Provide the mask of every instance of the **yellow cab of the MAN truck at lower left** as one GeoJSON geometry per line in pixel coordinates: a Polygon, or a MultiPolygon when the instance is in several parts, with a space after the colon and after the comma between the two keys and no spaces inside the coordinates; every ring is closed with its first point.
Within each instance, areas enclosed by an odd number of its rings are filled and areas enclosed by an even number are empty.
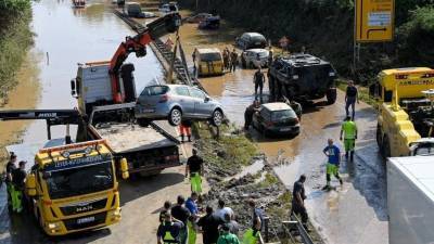
{"type": "Polygon", "coordinates": [[[27,176],[26,196],[49,235],[120,221],[114,158],[104,141],[39,150],[27,176]]]}

